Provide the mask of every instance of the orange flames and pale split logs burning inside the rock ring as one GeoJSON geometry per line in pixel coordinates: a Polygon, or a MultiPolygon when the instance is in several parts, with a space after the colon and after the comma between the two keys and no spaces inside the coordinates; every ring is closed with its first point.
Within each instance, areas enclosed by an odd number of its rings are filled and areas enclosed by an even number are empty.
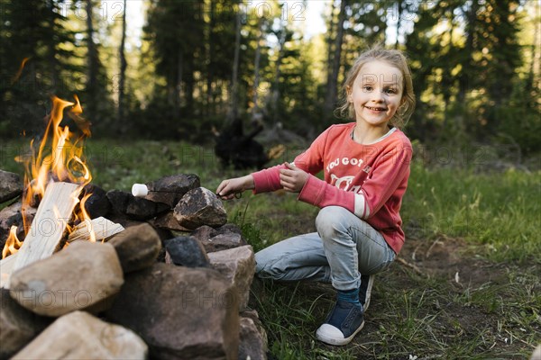
{"type": "Polygon", "coordinates": [[[32,140],[31,156],[17,158],[26,170],[21,207],[24,241],[17,238],[17,227],[12,226],[2,251],[2,287],[9,287],[9,277],[14,270],[50,257],[75,239],[96,241],[97,227],[100,239],[124,229],[105,219],[90,219],[85,202],[92,193],[79,199],[92,180],[83,155],[83,141],[90,135],[90,124],[80,116],[82,108],[77,96],[75,101],[70,103],[53,96],[50,120],[39,147],[36,149],[32,140]],[[75,132],[68,126],[60,126],[66,108],[81,133],[76,139],[75,132]],[[36,204],[39,207],[34,213],[32,209],[36,204]]]}

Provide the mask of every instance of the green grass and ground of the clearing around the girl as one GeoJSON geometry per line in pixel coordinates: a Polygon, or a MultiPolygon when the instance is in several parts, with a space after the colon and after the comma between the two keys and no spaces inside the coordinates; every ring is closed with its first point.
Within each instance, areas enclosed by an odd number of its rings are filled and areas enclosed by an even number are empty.
{"type": "MultiPolygon", "coordinates": [[[[0,168],[21,174],[14,157],[26,147],[2,143],[0,168]]],[[[222,179],[244,174],[222,168],[212,148],[182,142],[90,139],[86,154],[93,183],[105,190],[194,173],[214,191],[222,179]]],[[[395,262],[378,275],[365,328],[347,347],[315,338],[334,302],[330,285],[257,282],[251,303],[267,330],[270,358],[527,358],[541,343],[540,191],[539,170],[487,174],[415,161],[401,211],[408,247],[400,256],[420,271],[395,262]],[[439,257],[428,257],[436,247],[439,257]]],[[[317,209],[290,193],[246,192],[225,208],[256,251],[315,230],[317,209]]]]}

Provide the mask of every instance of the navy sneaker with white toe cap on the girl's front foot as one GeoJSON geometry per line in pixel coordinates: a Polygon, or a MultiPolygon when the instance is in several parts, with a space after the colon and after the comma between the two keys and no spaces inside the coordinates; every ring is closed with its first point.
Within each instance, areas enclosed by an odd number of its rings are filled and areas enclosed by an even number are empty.
{"type": "Polygon", "coordinates": [[[316,338],[329,345],[346,345],[364,326],[362,306],[337,301],[325,323],[316,331],[316,338]]]}

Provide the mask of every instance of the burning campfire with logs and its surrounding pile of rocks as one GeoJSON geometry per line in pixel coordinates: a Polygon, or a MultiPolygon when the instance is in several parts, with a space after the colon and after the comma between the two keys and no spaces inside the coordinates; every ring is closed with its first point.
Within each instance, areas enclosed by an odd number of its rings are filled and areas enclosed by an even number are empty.
{"type": "Polygon", "coordinates": [[[90,123],[77,97],[52,104],[23,192],[0,170],[0,359],[266,358],[252,247],[215,193],[190,174],[91,184],[90,123]]]}

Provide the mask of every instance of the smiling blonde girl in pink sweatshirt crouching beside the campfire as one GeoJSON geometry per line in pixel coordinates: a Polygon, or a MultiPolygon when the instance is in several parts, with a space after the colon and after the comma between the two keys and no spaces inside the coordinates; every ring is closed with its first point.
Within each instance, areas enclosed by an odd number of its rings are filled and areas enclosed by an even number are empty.
{"type": "Polygon", "coordinates": [[[316,338],[348,344],[364,325],[374,275],[404,243],[399,216],[411,144],[399,130],[415,106],[408,62],[376,47],[356,59],[344,84],[342,114],[354,122],[325,130],[293,163],[224,180],[216,193],[285,189],[321,210],[317,232],[288,238],[255,255],[256,274],[276,281],[331,282],[335,307],[316,338]],[[325,180],[315,175],[324,171],[325,180]]]}

